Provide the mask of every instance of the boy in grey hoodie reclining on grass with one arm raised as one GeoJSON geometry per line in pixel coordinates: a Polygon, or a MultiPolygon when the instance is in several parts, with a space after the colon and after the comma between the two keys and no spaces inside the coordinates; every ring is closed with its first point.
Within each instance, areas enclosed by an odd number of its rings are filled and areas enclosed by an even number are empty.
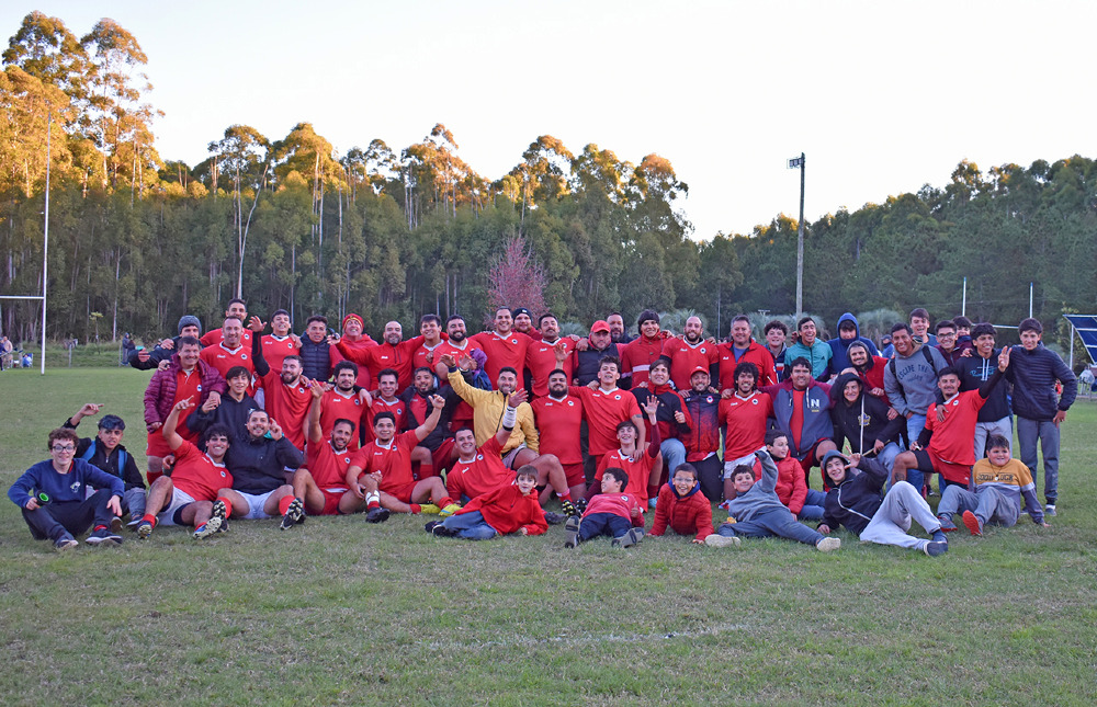
{"type": "Polygon", "coordinates": [[[716,531],[724,537],[770,537],[778,536],[814,545],[823,552],[837,550],[841,540],[826,537],[803,523],[798,523],[792,512],[781,503],[774,491],[777,487],[777,465],[765,447],[755,452],[761,461],[762,478],[755,483],[755,471],[740,464],[732,471],[732,483],[736,497],[727,503],[731,517],[716,531]]]}

